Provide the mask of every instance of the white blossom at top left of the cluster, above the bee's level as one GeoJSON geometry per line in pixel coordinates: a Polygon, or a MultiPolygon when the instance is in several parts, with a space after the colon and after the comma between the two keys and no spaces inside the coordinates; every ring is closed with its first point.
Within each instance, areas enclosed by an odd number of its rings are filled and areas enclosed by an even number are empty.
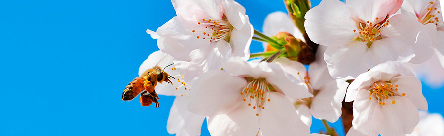
{"type": "Polygon", "coordinates": [[[253,26],[233,0],[171,0],[176,17],[157,29],[157,46],[171,55],[185,80],[221,69],[229,57],[247,60],[253,26]]]}

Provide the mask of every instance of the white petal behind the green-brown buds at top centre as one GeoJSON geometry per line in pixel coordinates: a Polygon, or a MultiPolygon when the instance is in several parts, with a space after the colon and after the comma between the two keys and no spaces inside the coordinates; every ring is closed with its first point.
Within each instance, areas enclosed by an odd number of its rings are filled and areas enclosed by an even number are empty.
{"type": "MultiPolygon", "coordinates": [[[[293,21],[290,19],[287,13],[281,11],[268,14],[263,22],[263,34],[271,37],[276,35],[278,32],[291,33],[295,38],[301,39],[305,42],[304,36],[293,24],[293,21]]],[[[267,42],[263,42],[263,49],[266,49],[267,45],[267,42]]]]}

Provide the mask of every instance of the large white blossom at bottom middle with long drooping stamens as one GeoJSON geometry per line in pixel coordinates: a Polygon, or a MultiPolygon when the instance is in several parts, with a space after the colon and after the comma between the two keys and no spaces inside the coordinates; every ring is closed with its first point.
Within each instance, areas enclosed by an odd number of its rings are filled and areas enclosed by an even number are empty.
{"type": "Polygon", "coordinates": [[[224,71],[202,74],[186,96],[188,108],[208,116],[212,136],[308,136],[290,98],[312,97],[276,63],[249,63],[231,58],[224,71]]]}

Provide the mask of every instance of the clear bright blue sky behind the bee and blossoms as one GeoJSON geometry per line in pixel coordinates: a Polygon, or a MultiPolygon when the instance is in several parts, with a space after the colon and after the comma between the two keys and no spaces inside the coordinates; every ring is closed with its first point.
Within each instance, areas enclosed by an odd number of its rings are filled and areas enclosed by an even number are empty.
{"type": "MultiPolygon", "coordinates": [[[[282,0],[236,1],[259,31],[267,14],[286,11],[282,0]]],[[[158,50],[145,30],[173,16],[169,0],[0,2],[0,135],[172,136],[174,97],[160,96],[155,108],[123,102],[121,93],[158,50]]],[[[252,52],[261,50],[252,43],[252,52]]],[[[423,85],[430,112],[444,113],[442,90],[423,85]]],[[[340,121],[333,126],[343,135],[340,121]]],[[[314,121],[312,132],[321,129],[314,121]]],[[[202,136],[209,136],[206,122],[202,136]]]]}

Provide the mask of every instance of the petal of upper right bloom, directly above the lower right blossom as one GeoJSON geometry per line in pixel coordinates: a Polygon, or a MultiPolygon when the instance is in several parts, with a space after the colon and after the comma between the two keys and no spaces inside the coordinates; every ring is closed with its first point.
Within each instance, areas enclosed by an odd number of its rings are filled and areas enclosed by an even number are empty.
{"type": "Polygon", "coordinates": [[[411,47],[397,38],[384,38],[376,40],[371,44],[366,54],[367,66],[372,68],[387,61],[408,62],[415,57],[411,47]]]}

